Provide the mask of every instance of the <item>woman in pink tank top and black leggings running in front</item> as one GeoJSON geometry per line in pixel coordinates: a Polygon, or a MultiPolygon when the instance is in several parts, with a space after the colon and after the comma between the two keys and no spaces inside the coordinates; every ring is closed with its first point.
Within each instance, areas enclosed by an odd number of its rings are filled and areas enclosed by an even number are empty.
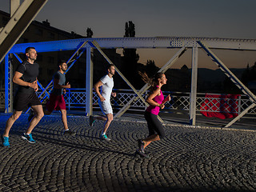
{"type": "Polygon", "coordinates": [[[150,142],[158,141],[166,136],[162,123],[158,120],[158,113],[160,109],[162,110],[165,107],[165,103],[170,101],[170,95],[164,99],[161,90],[161,87],[166,85],[167,82],[165,74],[157,73],[152,79],[148,78],[146,74],[140,74],[142,75],[143,81],[151,85],[150,95],[146,98],[146,102],[148,102],[150,106],[146,108],[144,114],[149,129],[149,136],[138,140],[138,150],[136,150],[135,154],[139,154],[143,158],[149,158],[149,156],[145,154],[146,146],[148,146],[150,142]]]}

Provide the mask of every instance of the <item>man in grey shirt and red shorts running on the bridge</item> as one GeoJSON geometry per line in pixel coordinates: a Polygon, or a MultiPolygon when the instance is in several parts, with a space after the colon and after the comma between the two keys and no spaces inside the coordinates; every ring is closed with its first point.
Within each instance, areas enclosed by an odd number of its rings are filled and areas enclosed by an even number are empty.
{"type": "Polygon", "coordinates": [[[67,70],[66,61],[58,62],[58,71],[54,74],[54,89],[50,92],[50,99],[46,102],[45,115],[49,115],[53,110],[60,110],[62,113],[62,122],[64,125],[64,135],[72,135],[75,133],[69,130],[66,120],[66,102],[63,97],[66,89],[70,89],[69,82],[66,83],[65,71],[67,70]],[[66,83],[66,84],[65,84],[66,83]]]}

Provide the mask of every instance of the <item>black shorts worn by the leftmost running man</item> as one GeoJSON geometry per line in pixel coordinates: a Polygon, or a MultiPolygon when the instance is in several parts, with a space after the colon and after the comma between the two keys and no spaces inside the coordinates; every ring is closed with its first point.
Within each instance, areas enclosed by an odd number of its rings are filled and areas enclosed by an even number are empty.
{"type": "Polygon", "coordinates": [[[26,109],[27,106],[38,105],[42,105],[42,103],[35,92],[32,94],[17,93],[14,97],[14,110],[22,111],[26,109]]]}

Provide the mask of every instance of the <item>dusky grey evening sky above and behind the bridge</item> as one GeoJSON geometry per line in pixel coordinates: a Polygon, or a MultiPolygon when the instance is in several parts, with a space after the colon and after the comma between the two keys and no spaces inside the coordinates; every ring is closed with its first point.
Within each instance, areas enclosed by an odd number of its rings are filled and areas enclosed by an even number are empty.
{"type": "MultiPolygon", "coordinates": [[[[22,1],[21,1],[22,2],[22,1]]],[[[1,1],[1,10],[9,11],[9,0],[1,1]]],[[[68,32],[86,35],[87,27],[94,38],[120,38],[125,23],[134,22],[135,37],[207,37],[256,38],[255,0],[49,0],[35,18],[48,21],[68,32]]],[[[166,64],[177,50],[138,50],[140,61],[151,59],[158,66],[166,64]]],[[[119,52],[121,53],[122,50],[119,52]]],[[[199,53],[200,54],[200,53],[199,53]]],[[[254,51],[222,52],[223,62],[232,68],[252,66],[254,51]]],[[[210,58],[198,61],[199,67],[209,66],[210,58]]],[[[190,54],[174,68],[190,67],[190,54]]],[[[214,68],[211,64],[210,68],[214,68]]]]}

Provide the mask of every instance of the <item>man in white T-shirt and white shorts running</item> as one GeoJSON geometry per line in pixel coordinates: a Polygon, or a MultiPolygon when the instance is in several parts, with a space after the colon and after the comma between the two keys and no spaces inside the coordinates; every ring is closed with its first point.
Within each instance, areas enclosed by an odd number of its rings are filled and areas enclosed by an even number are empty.
{"type": "Polygon", "coordinates": [[[90,126],[93,126],[94,121],[96,119],[106,121],[104,129],[102,131],[102,134],[100,138],[102,140],[110,141],[110,138],[106,136],[106,130],[110,126],[110,122],[113,120],[113,110],[112,106],[110,104],[110,97],[111,95],[113,97],[116,97],[116,93],[112,92],[114,81],[113,81],[113,75],[115,72],[114,65],[110,64],[110,66],[107,69],[108,74],[106,74],[104,77],[102,77],[98,82],[94,85],[94,90],[96,94],[98,94],[98,104],[102,110],[102,113],[106,115],[106,117],[94,117],[90,116],[90,126]],[[102,91],[99,91],[99,87],[102,86],[102,91]]]}

